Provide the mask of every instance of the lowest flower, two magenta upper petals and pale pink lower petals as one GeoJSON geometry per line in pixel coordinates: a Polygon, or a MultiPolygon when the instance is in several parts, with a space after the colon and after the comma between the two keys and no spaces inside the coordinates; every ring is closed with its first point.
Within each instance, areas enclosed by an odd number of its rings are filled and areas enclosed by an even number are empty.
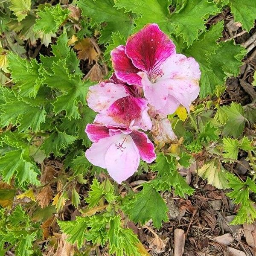
{"type": "Polygon", "coordinates": [[[106,168],[119,184],[137,171],[140,158],[147,163],[156,158],[154,145],[141,131],[88,124],[85,132],[93,142],[85,156],[93,165],[106,168]]]}

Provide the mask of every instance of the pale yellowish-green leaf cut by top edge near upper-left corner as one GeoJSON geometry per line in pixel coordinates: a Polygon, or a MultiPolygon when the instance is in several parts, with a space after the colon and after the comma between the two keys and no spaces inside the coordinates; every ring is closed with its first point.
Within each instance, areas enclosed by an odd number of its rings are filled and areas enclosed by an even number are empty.
{"type": "Polygon", "coordinates": [[[10,2],[12,5],[9,8],[17,16],[18,22],[20,22],[28,15],[31,8],[31,0],[10,0],[10,2]]]}

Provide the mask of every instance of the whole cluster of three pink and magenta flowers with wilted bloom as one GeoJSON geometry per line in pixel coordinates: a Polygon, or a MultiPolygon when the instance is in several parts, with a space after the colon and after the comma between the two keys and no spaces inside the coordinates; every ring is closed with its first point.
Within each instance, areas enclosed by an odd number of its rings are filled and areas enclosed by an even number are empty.
{"type": "Polygon", "coordinates": [[[177,54],[157,24],[148,24],[111,52],[114,73],[91,86],[88,106],[98,114],[85,132],[93,142],[87,159],[121,183],[137,171],[140,158],[151,163],[156,143],[174,140],[167,119],[198,97],[201,72],[194,58],[177,54]]]}

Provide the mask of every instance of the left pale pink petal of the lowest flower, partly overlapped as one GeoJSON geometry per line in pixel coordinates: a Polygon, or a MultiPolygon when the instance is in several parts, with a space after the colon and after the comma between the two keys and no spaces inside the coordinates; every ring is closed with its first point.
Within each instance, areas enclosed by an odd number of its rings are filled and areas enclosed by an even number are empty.
{"type": "Polygon", "coordinates": [[[94,142],[87,151],[85,151],[85,156],[95,166],[106,168],[105,156],[108,151],[108,148],[113,144],[115,145],[120,141],[120,138],[123,137],[123,134],[116,134],[111,137],[106,137],[98,142],[94,142]]]}

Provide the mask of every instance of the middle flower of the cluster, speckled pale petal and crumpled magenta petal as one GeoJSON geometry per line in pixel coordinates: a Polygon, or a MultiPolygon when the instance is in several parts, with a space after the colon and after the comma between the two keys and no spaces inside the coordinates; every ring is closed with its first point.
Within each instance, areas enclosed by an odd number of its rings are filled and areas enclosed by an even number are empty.
{"type": "Polygon", "coordinates": [[[152,128],[148,102],[141,96],[140,87],[116,84],[113,80],[91,86],[88,106],[99,114],[94,122],[131,129],[152,128]]]}

